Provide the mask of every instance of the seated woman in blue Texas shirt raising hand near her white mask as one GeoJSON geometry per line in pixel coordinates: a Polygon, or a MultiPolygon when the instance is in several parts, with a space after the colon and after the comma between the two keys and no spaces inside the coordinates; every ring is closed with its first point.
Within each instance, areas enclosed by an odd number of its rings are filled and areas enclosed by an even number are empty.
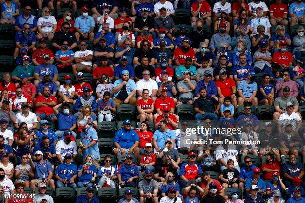
{"type": "Polygon", "coordinates": [[[87,155],[84,159],[83,164],[81,164],[78,168],[77,187],[92,187],[95,182],[96,174],[97,170],[96,166],[92,164],[92,156],[87,155]]]}

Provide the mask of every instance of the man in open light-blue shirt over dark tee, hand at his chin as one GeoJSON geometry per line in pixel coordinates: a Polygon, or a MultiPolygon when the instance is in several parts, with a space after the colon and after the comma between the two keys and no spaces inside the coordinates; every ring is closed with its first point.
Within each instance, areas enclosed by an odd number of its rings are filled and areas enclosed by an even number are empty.
{"type": "Polygon", "coordinates": [[[114,103],[115,105],[120,105],[123,103],[129,103],[131,105],[136,105],[136,84],[133,80],[129,79],[128,70],[123,70],[121,72],[122,78],[116,80],[112,91],[114,92],[114,103]]]}

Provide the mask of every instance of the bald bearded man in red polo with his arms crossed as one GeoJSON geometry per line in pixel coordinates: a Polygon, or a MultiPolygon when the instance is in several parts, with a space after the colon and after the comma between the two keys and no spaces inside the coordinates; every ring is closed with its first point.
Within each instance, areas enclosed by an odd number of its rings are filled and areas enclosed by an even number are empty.
{"type": "Polygon", "coordinates": [[[43,119],[55,122],[57,118],[53,112],[53,107],[57,105],[57,98],[50,96],[50,88],[43,88],[43,95],[38,95],[35,100],[37,120],[40,122],[43,119]]]}

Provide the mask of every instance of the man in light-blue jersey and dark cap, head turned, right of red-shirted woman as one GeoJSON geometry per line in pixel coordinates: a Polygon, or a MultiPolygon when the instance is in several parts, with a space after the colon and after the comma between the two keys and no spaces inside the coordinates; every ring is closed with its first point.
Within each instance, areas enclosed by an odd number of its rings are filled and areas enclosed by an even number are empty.
{"type": "Polygon", "coordinates": [[[237,98],[238,105],[243,105],[244,102],[252,103],[255,107],[258,105],[258,100],[256,96],[257,93],[257,84],[255,82],[255,73],[248,72],[247,79],[240,81],[237,86],[237,91],[239,98],[237,98]]]}

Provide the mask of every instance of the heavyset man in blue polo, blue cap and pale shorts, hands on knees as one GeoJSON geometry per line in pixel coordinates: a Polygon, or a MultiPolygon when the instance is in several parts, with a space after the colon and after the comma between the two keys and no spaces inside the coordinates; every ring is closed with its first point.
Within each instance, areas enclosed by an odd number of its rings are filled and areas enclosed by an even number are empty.
{"type": "Polygon", "coordinates": [[[139,141],[137,132],[131,129],[130,120],[124,120],[123,128],[118,130],[114,137],[115,148],[112,151],[116,156],[133,153],[138,158],[140,154],[140,149],[137,147],[139,141]]]}

